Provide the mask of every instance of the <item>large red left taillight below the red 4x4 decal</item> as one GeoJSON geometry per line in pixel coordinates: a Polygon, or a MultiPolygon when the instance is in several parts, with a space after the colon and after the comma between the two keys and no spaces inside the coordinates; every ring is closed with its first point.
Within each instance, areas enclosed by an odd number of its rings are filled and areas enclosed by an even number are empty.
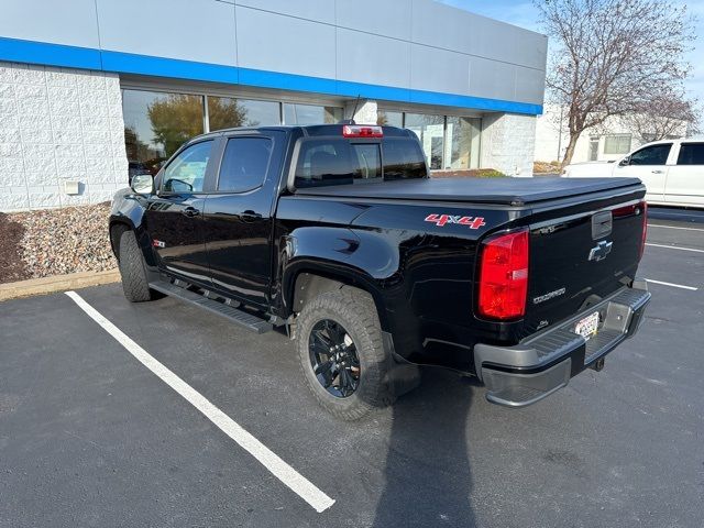
{"type": "Polygon", "coordinates": [[[481,251],[480,315],[522,317],[528,294],[528,230],[488,239],[481,251]]]}

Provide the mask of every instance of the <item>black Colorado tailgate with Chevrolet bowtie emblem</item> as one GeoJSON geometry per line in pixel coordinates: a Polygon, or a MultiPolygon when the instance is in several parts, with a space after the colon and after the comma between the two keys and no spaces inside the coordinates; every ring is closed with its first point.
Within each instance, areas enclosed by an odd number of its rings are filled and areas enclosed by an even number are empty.
{"type": "Polygon", "coordinates": [[[528,336],[629,285],[640,261],[644,188],[585,199],[575,210],[535,210],[530,223],[528,336]]]}

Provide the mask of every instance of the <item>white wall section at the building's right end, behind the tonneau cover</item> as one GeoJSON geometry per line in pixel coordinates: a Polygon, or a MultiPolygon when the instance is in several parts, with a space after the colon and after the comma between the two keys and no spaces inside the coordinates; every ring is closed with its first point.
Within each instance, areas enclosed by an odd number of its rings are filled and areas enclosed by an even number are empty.
{"type": "Polygon", "coordinates": [[[495,168],[508,176],[532,176],[535,116],[484,114],[481,142],[482,168],[495,168]]]}

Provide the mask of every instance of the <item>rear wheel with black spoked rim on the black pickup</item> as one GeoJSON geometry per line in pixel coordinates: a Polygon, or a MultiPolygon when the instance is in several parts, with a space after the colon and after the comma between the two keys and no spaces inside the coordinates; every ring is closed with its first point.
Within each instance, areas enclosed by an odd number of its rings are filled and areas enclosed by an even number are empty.
{"type": "Polygon", "coordinates": [[[310,300],[297,320],[298,356],[318,403],[355,420],[392,403],[388,358],[374,300],[345,286],[310,300]]]}

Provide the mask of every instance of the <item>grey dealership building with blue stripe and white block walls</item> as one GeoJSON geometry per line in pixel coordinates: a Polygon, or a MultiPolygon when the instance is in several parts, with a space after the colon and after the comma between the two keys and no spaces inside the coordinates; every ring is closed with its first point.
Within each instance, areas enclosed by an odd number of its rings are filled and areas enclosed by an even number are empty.
{"type": "Polygon", "coordinates": [[[528,176],[546,55],[431,0],[3,0],[0,211],[109,200],[202,132],[349,118],[528,176]]]}

